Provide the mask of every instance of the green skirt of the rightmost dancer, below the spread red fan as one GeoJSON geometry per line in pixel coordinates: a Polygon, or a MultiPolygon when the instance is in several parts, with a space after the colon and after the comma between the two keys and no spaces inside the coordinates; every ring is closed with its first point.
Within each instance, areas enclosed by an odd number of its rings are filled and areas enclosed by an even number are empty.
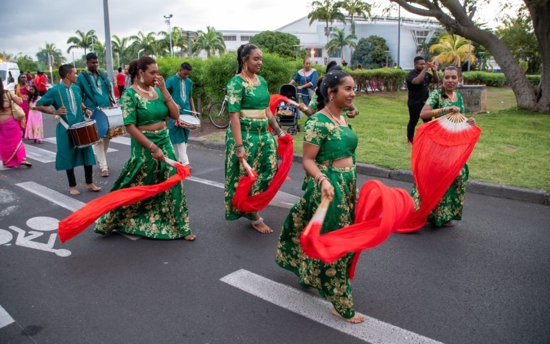
{"type": "MultiPolygon", "coordinates": [[[[428,222],[436,226],[443,226],[453,220],[462,220],[462,209],[464,205],[464,194],[466,193],[466,182],[470,170],[467,164],[464,164],[458,176],[447,189],[443,198],[428,214],[428,222]]],[[[412,186],[412,199],[414,200],[415,210],[420,208],[420,194],[416,189],[416,184],[412,186]]]]}

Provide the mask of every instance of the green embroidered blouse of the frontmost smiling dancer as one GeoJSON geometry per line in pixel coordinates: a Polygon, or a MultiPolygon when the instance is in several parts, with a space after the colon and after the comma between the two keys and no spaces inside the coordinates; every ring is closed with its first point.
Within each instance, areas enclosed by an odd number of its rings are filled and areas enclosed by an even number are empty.
{"type": "Polygon", "coordinates": [[[351,125],[336,125],[330,118],[317,112],[306,121],[304,142],[319,146],[315,161],[325,162],[354,157],[358,139],[351,125]]]}

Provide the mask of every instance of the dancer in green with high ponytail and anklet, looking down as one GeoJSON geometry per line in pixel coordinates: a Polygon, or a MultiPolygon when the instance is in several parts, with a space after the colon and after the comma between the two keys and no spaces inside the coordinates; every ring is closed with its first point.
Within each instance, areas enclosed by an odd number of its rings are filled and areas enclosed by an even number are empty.
{"type": "Polygon", "coordinates": [[[255,45],[241,45],[237,61],[237,75],[227,84],[231,125],[226,135],[226,220],[246,217],[252,220],[256,231],[271,233],[273,231],[257,212],[248,214],[237,210],[233,206],[233,195],[240,177],[246,174],[243,161],[258,173],[250,193],[256,195],[268,188],[278,166],[277,144],[268,126],[278,136],[284,133],[269,108],[270,93],[266,80],[256,75],[262,65],[262,52],[255,45]]]}

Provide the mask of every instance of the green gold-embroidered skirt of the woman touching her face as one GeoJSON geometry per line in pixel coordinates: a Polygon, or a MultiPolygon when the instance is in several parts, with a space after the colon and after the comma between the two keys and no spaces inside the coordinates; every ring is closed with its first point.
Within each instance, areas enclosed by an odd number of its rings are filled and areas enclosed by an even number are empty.
{"type": "MultiPolygon", "coordinates": [[[[166,128],[141,132],[162,149],[164,156],[177,160],[166,128]]],[[[158,184],[174,174],[175,167],[154,159],[149,149],[131,138],[130,159],[114,182],[112,191],[138,185],[158,184]]],[[[183,183],[101,216],[95,232],[108,234],[113,230],[155,239],[177,239],[191,234],[183,183]]]]}

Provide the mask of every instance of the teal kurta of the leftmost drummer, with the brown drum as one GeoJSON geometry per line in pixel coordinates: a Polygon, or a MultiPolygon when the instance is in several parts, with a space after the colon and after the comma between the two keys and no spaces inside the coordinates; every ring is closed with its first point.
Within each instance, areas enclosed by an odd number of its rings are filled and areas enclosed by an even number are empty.
{"type": "MultiPolygon", "coordinates": [[[[84,122],[84,116],[80,104],[82,96],[80,89],[76,85],[69,86],[59,83],[49,89],[40,100],[36,102],[36,106],[52,105],[56,110],[63,105],[67,108],[67,114],[62,115],[63,121],[73,125],[79,122],[84,122]],[[59,92],[63,102],[59,99],[59,92]]],[[[85,148],[76,148],[73,143],[73,138],[70,136],[69,130],[65,129],[61,123],[57,123],[56,127],[56,170],[70,170],[76,166],[95,165],[96,159],[91,146],[85,148]]]]}

